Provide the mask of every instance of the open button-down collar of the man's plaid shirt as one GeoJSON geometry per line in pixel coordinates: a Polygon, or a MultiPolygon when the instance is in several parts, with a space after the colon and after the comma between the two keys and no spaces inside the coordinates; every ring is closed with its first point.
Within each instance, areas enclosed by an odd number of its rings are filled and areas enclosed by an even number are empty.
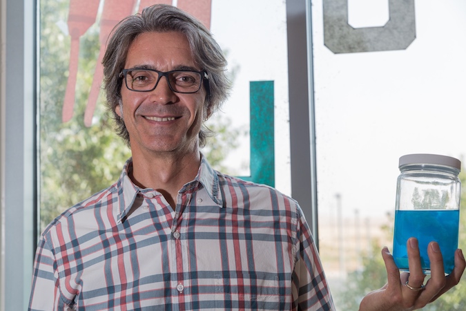
{"type": "MultiPolygon", "coordinates": [[[[128,214],[128,211],[133,206],[133,203],[136,200],[137,194],[139,192],[154,191],[153,189],[141,189],[137,187],[131,178],[129,177],[130,172],[133,170],[133,158],[126,160],[124,164],[122,174],[119,177],[117,182],[117,191],[118,191],[118,203],[119,203],[119,214],[117,220],[122,221],[125,216],[128,214]]],[[[202,185],[208,196],[215,202],[215,204],[223,207],[223,198],[222,192],[220,191],[220,182],[218,179],[218,172],[215,171],[206,157],[201,153],[201,164],[197,175],[194,180],[186,183],[180,192],[184,191],[195,191],[199,188],[198,185],[202,185]]]]}

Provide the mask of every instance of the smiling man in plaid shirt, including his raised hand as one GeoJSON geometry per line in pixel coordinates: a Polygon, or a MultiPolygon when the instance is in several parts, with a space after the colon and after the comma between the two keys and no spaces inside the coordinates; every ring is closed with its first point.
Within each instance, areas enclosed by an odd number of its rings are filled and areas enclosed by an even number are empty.
{"type": "MultiPolygon", "coordinates": [[[[295,200],[214,171],[202,123],[228,93],[226,61],[208,30],[171,6],[115,28],[103,60],[107,101],[132,158],[119,180],[57,217],[37,248],[30,310],[335,310],[295,200]]],[[[423,285],[387,249],[388,284],[361,310],[414,310],[458,283],[429,245],[423,285]],[[409,276],[409,279],[408,279],[409,276]]]]}

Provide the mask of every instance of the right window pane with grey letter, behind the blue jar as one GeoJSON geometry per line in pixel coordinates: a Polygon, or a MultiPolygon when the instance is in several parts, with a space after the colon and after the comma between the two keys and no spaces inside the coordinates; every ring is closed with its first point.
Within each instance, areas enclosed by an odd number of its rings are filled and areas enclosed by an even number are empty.
{"type": "MultiPolygon", "coordinates": [[[[386,282],[398,158],[466,154],[465,1],[364,3],[312,1],[320,255],[338,310],[386,282]]],[[[425,310],[457,310],[465,291],[425,310]]]]}

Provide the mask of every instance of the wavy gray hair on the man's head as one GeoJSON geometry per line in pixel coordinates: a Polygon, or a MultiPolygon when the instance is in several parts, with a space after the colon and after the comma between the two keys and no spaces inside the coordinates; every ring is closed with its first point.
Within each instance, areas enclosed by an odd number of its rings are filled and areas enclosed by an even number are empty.
{"type": "MultiPolygon", "coordinates": [[[[228,97],[230,83],[226,77],[226,59],[211,32],[200,21],[173,6],[157,4],[144,8],[141,14],[126,17],[113,28],[102,60],[107,109],[115,117],[118,135],[128,145],[128,130],[122,118],[115,112],[117,105],[122,104],[123,79],[120,73],[124,69],[128,50],[136,37],[144,32],[170,31],[186,35],[193,59],[208,73],[208,80],[204,80],[207,82],[204,83],[207,94],[204,102],[206,111],[217,111],[228,97]]],[[[211,131],[202,124],[199,133],[200,147],[205,146],[209,135],[211,131]]]]}

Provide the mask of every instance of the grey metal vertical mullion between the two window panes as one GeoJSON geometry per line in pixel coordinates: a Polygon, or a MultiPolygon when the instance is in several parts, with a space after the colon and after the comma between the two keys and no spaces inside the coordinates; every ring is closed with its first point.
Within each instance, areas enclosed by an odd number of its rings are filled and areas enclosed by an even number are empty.
{"type": "Polygon", "coordinates": [[[287,0],[291,196],[318,245],[311,1],[287,0]]]}

